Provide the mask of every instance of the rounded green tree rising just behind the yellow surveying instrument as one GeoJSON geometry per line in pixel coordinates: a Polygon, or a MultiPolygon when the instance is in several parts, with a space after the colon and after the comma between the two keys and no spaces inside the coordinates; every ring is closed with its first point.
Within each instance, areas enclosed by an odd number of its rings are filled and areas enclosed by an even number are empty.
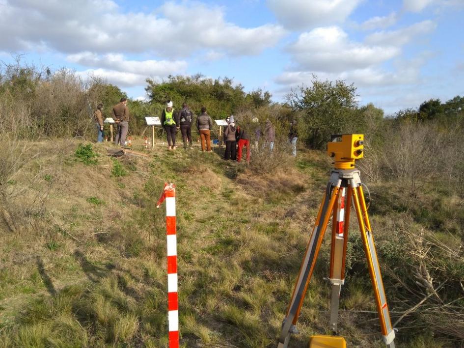
{"type": "Polygon", "coordinates": [[[310,87],[301,85],[286,96],[288,104],[302,111],[300,137],[315,149],[322,149],[331,134],[353,133],[361,122],[357,116],[356,87],[344,80],[320,81],[315,75],[310,87]]]}

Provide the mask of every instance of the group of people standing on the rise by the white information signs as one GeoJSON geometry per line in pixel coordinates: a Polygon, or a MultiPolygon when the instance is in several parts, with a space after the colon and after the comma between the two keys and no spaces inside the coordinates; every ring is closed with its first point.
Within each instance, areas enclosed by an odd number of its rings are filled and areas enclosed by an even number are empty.
{"type": "MultiPolygon", "coordinates": [[[[114,122],[116,123],[116,145],[124,145],[129,131],[129,108],[127,107],[126,98],[121,98],[113,109],[114,122]]],[[[182,109],[176,112],[172,101],[168,101],[161,113],[161,124],[166,132],[168,150],[176,149],[176,134],[180,129],[182,133],[182,142],[184,149],[191,148],[191,126],[193,124],[193,112],[187,103],[182,104],[182,109]]],[[[97,129],[97,142],[103,141],[103,104],[99,104],[94,113],[95,125],[97,129]]],[[[246,161],[250,161],[250,136],[246,125],[237,125],[234,115],[226,118],[227,126],[223,126],[223,141],[225,143],[224,160],[234,160],[240,162],[244,147],[246,148],[246,161]]],[[[275,129],[271,120],[266,121],[264,132],[257,123],[258,118],[252,119],[256,125],[255,129],[255,149],[258,150],[258,143],[262,136],[265,139],[265,146],[272,153],[275,142],[275,129]]],[[[201,139],[201,151],[212,152],[211,150],[211,131],[213,129],[213,120],[208,115],[206,107],[201,108],[201,114],[196,118],[196,129],[201,139]]],[[[297,122],[293,120],[290,124],[288,135],[289,142],[292,144],[292,155],[297,155],[297,122]]]]}

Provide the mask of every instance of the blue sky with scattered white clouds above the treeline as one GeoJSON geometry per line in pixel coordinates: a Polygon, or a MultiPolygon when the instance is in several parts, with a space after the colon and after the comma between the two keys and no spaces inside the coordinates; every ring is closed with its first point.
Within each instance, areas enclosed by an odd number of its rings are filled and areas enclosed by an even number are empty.
{"type": "Polygon", "coordinates": [[[73,69],[144,99],[146,78],[228,77],[273,100],[354,83],[385,113],[464,95],[464,0],[0,0],[0,61],[73,69]]]}

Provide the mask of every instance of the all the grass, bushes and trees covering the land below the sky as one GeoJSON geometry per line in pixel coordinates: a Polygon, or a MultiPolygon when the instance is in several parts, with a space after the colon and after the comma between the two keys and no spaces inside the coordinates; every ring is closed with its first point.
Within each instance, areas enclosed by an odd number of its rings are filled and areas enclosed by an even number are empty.
{"type": "MultiPolygon", "coordinates": [[[[95,135],[87,105],[103,100],[109,112],[123,95],[117,87],[19,63],[3,69],[1,347],[167,346],[165,216],[155,207],[164,182],[177,186],[182,346],[273,347],[332,167],[318,149],[328,134],[346,132],[366,134],[359,166],[398,346],[460,347],[462,99],[385,118],[373,105],[356,104],[354,86],[315,82],[278,105],[228,79],[148,81],[150,100],[129,107],[133,146],[149,157],[112,159],[104,145],[86,141],[95,135]],[[252,140],[246,164],[223,161],[218,148],[168,152],[157,143],[146,151],[142,117],[168,97],[194,109],[210,103],[216,118],[234,112],[250,134],[272,120],[273,152],[252,140]],[[347,117],[329,120],[332,111],[347,117]],[[297,158],[287,139],[294,118],[297,158]]],[[[382,347],[364,250],[351,224],[340,334],[349,346],[382,347]]],[[[326,238],[294,347],[327,332],[329,252],[326,238]]]]}

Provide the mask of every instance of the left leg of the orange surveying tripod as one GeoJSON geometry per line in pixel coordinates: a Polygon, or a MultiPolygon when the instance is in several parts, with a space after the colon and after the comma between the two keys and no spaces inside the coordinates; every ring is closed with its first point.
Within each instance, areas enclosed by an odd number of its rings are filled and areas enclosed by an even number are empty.
{"type": "Polygon", "coordinates": [[[298,321],[301,305],[306,294],[309,280],[311,279],[314,270],[314,265],[317,259],[317,255],[319,254],[319,249],[321,248],[322,240],[328,225],[328,220],[335,205],[335,201],[338,198],[340,185],[341,180],[338,179],[338,175],[331,177],[331,180],[327,185],[326,196],[319,209],[316,225],[311,232],[303,262],[300,266],[300,272],[295,284],[295,289],[292,294],[292,299],[287,310],[287,316],[285,317],[282,324],[282,330],[278,340],[278,348],[287,347],[290,339],[290,328],[298,321]]]}

